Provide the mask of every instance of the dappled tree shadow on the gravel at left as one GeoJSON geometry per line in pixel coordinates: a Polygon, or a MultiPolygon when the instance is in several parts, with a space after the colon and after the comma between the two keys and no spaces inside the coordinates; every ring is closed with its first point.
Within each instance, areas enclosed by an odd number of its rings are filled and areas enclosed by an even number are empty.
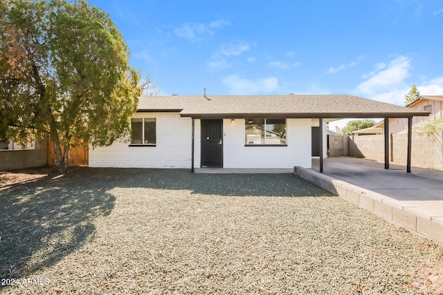
{"type": "Polygon", "coordinates": [[[114,208],[115,198],[107,193],[114,183],[101,182],[100,175],[41,171],[21,182],[14,180],[18,173],[9,173],[15,183],[0,186],[0,278],[53,265],[84,245],[95,231],[93,219],[114,208]]]}

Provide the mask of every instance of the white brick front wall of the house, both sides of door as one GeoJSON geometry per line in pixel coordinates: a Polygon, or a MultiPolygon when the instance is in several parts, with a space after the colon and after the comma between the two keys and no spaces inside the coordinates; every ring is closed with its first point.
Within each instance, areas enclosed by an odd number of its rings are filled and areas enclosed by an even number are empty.
{"type": "MultiPolygon", "coordinates": [[[[89,149],[91,167],[185,168],[191,167],[192,120],[179,113],[136,113],[156,118],[156,146],[111,146],[89,149]]],[[[200,120],[195,120],[195,168],[200,166],[200,120]]],[[[311,167],[311,120],[287,120],[287,146],[244,146],[244,120],[225,119],[225,168],[311,167]]]]}

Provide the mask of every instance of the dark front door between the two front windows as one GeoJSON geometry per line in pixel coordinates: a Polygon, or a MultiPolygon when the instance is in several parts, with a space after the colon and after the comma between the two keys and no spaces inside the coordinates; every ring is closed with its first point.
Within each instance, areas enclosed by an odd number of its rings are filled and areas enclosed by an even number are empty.
{"type": "Polygon", "coordinates": [[[223,120],[201,120],[201,166],[223,167],[223,120]]]}

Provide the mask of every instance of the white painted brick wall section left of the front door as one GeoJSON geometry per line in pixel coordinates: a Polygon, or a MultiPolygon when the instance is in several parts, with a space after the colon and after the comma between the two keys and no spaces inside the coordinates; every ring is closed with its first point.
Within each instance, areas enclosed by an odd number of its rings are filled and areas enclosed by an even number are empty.
{"type": "MultiPolygon", "coordinates": [[[[136,113],[133,117],[156,118],[156,146],[129,146],[129,142],[114,142],[111,146],[89,149],[89,166],[190,169],[190,118],[180,117],[179,113],[136,113]]],[[[196,126],[197,130],[199,127],[196,126]]]]}

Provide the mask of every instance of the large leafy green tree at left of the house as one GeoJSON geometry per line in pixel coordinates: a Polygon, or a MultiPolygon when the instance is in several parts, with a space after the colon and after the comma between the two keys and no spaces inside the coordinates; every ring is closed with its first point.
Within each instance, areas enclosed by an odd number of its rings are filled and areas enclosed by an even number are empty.
{"type": "Polygon", "coordinates": [[[0,32],[0,134],[46,133],[64,173],[71,146],[128,133],[139,75],[107,13],[82,0],[3,0],[0,32]]]}

